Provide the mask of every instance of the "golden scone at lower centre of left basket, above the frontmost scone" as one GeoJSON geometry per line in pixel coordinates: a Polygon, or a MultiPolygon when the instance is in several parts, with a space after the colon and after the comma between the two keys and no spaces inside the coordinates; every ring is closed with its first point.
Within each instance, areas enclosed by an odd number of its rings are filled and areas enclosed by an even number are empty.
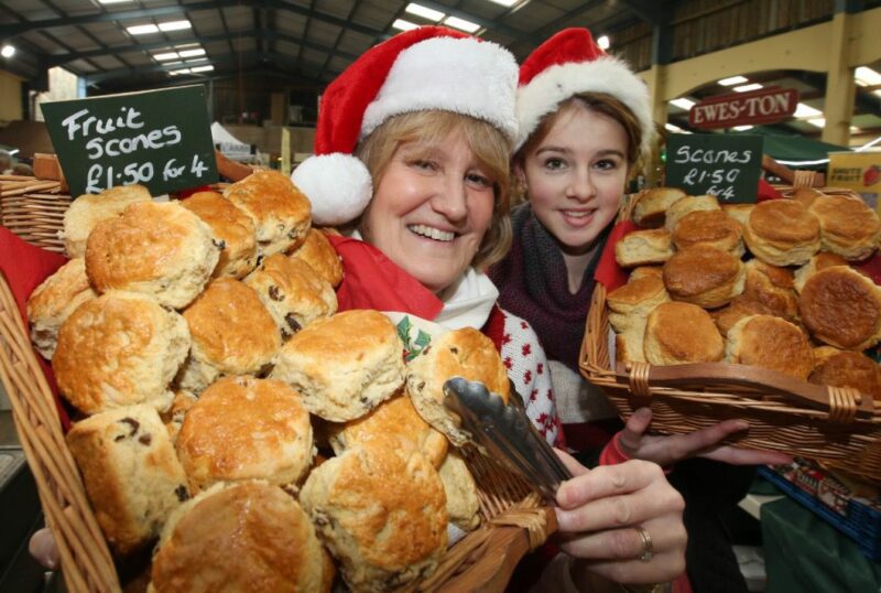
{"type": "Polygon", "coordinates": [[[175,446],[194,492],[252,478],[293,485],[315,456],[300,393],[253,377],[226,377],[206,389],[184,416],[175,446]]]}

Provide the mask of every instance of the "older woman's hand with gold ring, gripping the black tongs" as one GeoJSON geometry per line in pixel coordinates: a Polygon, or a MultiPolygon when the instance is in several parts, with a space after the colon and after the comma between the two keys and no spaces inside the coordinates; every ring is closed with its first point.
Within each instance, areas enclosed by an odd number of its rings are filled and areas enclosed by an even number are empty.
{"type": "Polygon", "coordinates": [[[660,466],[587,470],[558,454],[575,476],[557,490],[556,509],[561,547],[581,560],[574,576],[584,568],[618,583],[659,583],[685,571],[685,503],[660,466]]]}

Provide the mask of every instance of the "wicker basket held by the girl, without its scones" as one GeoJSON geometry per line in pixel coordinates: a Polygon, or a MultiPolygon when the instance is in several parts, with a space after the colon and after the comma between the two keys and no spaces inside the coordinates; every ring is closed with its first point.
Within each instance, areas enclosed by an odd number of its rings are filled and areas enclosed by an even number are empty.
{"type": "MultiPolygon", "coordinates": [[[[787,195],[811,186],[813,175],[797,175],[787,195]]],[[[848,190],[824,192],[842,194],[848,190]]],[[[634,201],[619,220],[630,219],[634,201]]],[[[731,443],[830,462],[859,477],[881,483],[881,410],[871,397],[849,388],[808,384],[758,367],[722,363],[652,366],[613,364],[606,287],[597,283],[590,302],[579,366],[584,377],[608,396],[622,418],[637,408],[652,409],[652,429],[686,433],[721,420],[750,424],[731,443]]]]}

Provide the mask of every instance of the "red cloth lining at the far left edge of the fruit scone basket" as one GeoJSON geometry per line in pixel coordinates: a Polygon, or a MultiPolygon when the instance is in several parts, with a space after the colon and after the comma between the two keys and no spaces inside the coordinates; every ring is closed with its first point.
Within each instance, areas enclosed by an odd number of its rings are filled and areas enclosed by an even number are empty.
{"type": "MultiPolygon", "coordinates": [[[[8,228],[0,226],[0,273],[6,278],[12,295],[15,298],[25,326],[28,323],[25,304],[31,292],[66,262],[67,258],[64,256],[34,247],[23,241],[8,228]]],[[[58,408],[62,427],[66,432],[70,425],[70,419],[58,397],[58,387],[55,385],[52,367],[36,351],[34,351],[34,355],[55,396],[55,405],[58,408]]]]}

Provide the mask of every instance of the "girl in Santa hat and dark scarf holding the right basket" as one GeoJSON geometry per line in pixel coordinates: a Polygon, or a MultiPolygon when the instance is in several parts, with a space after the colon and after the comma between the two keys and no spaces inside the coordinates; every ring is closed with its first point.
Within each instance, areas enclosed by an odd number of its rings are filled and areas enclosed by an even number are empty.
{"type": "MultiPolygon", "coordinates": [[[[747,465],[787,462],[787,455],[721,445],[747,428],[738,420],[690,434],[654,436],[645,434],[651,411],[642,409],[618,431],[614,410],[578,373],[595,268],[626,184],[649,154],[654,136],[642,80],[606,55],[589,31],[568,29],[521,66],[518,119],[512,163],[527,202],[512,214],[512,249],[490,277],[499,287],[500,304],[529,321],[547,352],[567,444],[585,461],[589,450],[605,445],[601,463],[642,459],[670,466],[693,456],[747,465]]],[[[716,591],[746,591],[718,514],[746,493],[751,476],[750,467],[706,460],[679,463],[671,474],[686,499],[686,558],[697,591],[710,582],[716,591]],[[726,584],[719,589],[718,583],[726,584]]]]}

